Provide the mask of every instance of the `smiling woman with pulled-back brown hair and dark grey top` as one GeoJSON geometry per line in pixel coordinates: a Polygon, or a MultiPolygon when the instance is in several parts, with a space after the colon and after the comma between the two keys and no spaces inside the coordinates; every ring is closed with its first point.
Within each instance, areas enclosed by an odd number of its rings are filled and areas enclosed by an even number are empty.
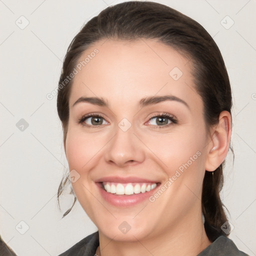
{"type": "Polygon", "coordinates": [[[245,255],[219,197],[231,89],[200,24],[155,2],[104,9],[67,49],[57,110],[75,200],[98,228],[62,256],[245,255]]]}

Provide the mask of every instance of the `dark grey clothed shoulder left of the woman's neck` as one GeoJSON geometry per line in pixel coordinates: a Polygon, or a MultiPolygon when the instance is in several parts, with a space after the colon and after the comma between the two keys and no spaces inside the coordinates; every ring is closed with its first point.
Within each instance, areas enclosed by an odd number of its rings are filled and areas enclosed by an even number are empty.
{"type": "Polygon", "coordinates": [[[91,256],[94,255],[98,244],[98,231],[96,231],[95,233],[84,237],[75,243],[71,248],[62,252],[58,256],[91,256]]]}

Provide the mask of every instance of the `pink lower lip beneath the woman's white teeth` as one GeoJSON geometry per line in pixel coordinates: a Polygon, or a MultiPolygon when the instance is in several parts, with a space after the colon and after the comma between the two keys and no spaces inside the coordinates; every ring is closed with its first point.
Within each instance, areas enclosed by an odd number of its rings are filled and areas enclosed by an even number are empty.
{"type": "Polygon", "coordinates": [[[120,206],[120,207],[132,206],[148,199],[149,196],[151,196],[154,193],[155,189],[158,187],[158,184],[157,184],[157,186],[154,189],[150,191],[146,191],[144,193],[131,194],[131,195],[126,195],[126,194],[116,195],[116,194],[106,192],[105,189],[102,188],[101,183],[97,182],[96,184],[99,188],[101,196],[105,199],[105,201],[107,201],[108,203],[114,206],[120,206]]]}

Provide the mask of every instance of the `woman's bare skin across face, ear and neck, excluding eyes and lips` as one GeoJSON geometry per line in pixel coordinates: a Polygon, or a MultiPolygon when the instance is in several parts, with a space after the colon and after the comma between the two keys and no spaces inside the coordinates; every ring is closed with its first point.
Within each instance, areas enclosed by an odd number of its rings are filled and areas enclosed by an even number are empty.
{"type": "Polygon", "coordinates": [[[80,175],[72,183],[75,195],[99,230],[97,253],[197,255],[210,244],[201,218],[202,180],[205,170],[215,170],[227,154],[230,115],[221,112],[218,125],[206,129],[190,62],[169,46],[152,39],[108,39],[91,45],[80,60],[94,48],[99,52],[73,80],[64,147],[69,169],[80,175]],[[178,80],[169,75],[173,67],[183,73],[178,80]],[[139,106],[145,96],[170,94],[187,106],[176,100],[139,106]],[[81,96],[102,97],[109,105],[73,106],[81,96]],[[161,126],[156,117],[150,120],[163,112],[175,116],[177,123],[161,126]],[[86,120],[90,128],[78,123],[89,113],[102,115],[102,124],[93,126],[91,118],[86,120]],[[123,118],[131,124],[127,131],[118,126],[123,118]],[[113,206],[94,182],[116,175],[150,178],[162,185],[198,151],[200,156],[153,202],[113,206]],[[118,228],[123,221],[131,227],[125,234],[118,228]]]}

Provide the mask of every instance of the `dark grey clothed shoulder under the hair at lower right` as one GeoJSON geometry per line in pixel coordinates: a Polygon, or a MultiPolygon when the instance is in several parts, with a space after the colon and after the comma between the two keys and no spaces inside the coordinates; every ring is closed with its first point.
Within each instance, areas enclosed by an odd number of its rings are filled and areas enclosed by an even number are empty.
{"type": "Polygon", "coordinates": [[[228,237],[221,235],[197,256],[248,256],[246,253],[238,250],[233,241],[228,237]]]}

